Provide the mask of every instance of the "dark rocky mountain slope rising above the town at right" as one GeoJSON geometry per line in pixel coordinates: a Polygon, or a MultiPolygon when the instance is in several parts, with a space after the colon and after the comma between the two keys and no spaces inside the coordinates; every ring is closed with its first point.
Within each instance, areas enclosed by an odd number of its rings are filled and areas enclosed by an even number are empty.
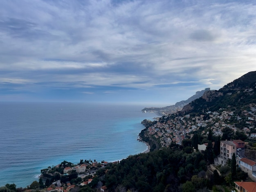
{"type": "Polygon", "coordinates": [[[220,108],[240,108],[256,103],[256,71],[228,83],[218,91],[207,91],[202,97],[184,106],[180,114],[217,111],[220,108]]]}

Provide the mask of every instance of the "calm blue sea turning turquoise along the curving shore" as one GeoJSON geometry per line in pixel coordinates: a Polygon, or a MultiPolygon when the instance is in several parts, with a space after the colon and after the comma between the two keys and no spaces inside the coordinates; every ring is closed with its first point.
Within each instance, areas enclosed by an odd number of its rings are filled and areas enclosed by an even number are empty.
{"type": "Polygon", "coordinates": [[[40,170],[81,159],[120,161],[147,150],[137,140],[146,106],[0,102],[0,186],[27,187],[40,170]]]}

